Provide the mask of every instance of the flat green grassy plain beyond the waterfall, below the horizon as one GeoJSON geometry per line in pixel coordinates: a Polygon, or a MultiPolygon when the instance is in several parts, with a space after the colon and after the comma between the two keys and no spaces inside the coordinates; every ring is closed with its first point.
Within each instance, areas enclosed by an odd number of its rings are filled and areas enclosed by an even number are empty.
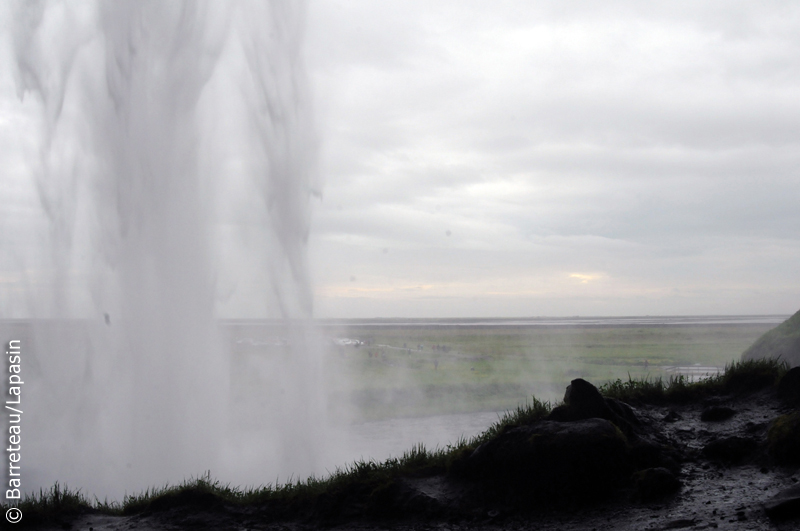
{"type": "Polygon", "coordinates": [[[343,326],[325,330],[333,404],[361,418],[516,407],[559,399],[574,378],[669,378],[670,367],[723,368],[774,325],[651,327],[343,326]]]}

